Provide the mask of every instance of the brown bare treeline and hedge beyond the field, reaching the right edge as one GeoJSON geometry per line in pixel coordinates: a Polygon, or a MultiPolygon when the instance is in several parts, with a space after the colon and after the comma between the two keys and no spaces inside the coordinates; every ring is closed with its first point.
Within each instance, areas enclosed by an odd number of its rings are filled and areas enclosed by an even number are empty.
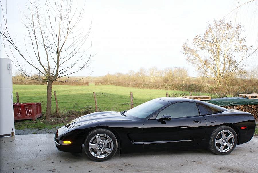
{"type": "Polygon", "coordinates": [[[241,93],[258,93],[257,78],[233,77],[224,81],[223,86],[216,87],[215,80],[205,77],[189,77],[187,70],[179,67],[164,70],[158,70],[156,67],[148,70],[141,68],[138,72],[130,70],[127,74],[107,74],[96,79],[95,84],[192,91],[195,93],[210,93],[217,97],[238,96],[241,93]]]}

